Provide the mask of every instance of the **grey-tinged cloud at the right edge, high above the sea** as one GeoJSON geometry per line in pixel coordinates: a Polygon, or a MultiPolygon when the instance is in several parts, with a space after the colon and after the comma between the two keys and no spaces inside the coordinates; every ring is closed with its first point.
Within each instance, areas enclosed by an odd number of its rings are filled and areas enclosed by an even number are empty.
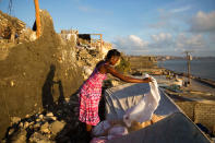
{"type": "Polygon", "coordinates": [[[199,11],[191,20],[191,32],[215,32],[215,11],[204,13],[199,11]]]}

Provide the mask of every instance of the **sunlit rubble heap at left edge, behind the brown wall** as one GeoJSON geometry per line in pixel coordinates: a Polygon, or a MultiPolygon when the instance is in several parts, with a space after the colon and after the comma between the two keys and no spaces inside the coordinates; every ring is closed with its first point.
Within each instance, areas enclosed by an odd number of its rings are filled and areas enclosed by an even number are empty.
{"type": "Polygon", "coordinates": [[[0,60],[4,60],[17,44],[36,39],[36,32],[25,25],[21,20],[0,11],[0,60]]]}

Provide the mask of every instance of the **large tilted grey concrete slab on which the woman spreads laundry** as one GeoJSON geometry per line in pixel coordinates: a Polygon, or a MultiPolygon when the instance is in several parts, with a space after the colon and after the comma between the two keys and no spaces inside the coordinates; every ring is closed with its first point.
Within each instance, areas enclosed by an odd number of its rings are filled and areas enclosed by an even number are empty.
{"type": "MultiPolygon", "coordinates": [[[[124,84],[106,91],[106,119],[122,119],[126,110],[136,105],[148,84],[124,84]]],[[[181,109],[162,91],[159,106],[155,114],[167,116],[165,119],[109,141],[110,143],[210,143],[199,128],[182,114],[181,109]]]]}

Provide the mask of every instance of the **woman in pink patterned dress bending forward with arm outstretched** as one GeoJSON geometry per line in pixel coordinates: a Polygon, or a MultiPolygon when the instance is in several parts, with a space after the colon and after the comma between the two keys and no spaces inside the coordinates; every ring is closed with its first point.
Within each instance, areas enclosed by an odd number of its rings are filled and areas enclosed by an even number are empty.
{"type": "Polygon", "coordinates": [[[80,90],[80,121],[86,123],[86,131],[92,130],[92,126],[96,126],[99,122],[98,117],[98,104],[101,96],[103,81],[106,79],[107,73],[120,79],[121,81],[129,83],[148,83],[151,79],[134,79],[120,74],[114,69],[114,65],[118,62],[120,52],[117,49],[108,51],[106,59],[99,61],[80,90]]]}

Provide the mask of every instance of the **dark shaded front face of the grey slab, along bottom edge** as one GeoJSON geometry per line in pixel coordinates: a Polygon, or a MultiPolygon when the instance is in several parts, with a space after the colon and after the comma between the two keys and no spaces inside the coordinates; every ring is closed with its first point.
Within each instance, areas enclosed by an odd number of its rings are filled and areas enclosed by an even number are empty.
{"type": "Polygon", "coordinates": [[[183,114],[176,112],[153,126],[108,143],[212,143],[183,114]]]}

